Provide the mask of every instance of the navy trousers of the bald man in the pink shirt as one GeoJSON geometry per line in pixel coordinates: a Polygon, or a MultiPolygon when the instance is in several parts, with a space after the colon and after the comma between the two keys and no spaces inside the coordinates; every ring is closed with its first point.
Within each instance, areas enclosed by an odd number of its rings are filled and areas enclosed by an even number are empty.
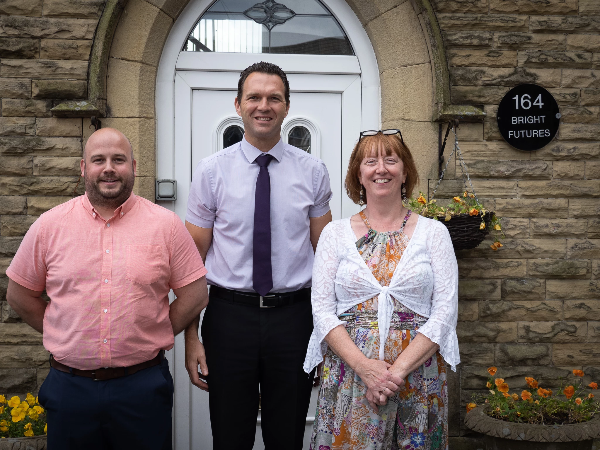
{"type": "Polygon", "coordinates": [[[92,381],[50,368],[39,400],[48,450],[171,450],[173,379],[169,362],[133,375],[92,381]]]}

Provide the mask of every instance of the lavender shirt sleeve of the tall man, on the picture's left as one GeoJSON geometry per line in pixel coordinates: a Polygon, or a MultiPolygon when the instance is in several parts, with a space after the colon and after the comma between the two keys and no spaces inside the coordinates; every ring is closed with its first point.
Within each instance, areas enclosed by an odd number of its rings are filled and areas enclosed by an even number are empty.
{"type": "Polygon", "coordinates": [[[197,227],[212,228],[216,211],[211,172],[205,161],[200,161],[191,180],[185,220],[197,227]]]}

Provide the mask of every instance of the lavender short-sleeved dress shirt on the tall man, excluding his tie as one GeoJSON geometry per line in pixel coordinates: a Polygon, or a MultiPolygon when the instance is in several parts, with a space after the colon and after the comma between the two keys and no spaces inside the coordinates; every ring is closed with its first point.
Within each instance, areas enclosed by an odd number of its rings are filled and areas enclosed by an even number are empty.
{"type": "MultiPolygon", "coordinates": [[[[263,152],[242,139],[204,158],[194,172],[185,220],[212,227],[206,254],[208,284],[252,289],[254,192],[263,152]]],[[[332,192],[323,161],[280,140],[269,151],[271,178],[271,292],[311,286],[310,217],[329,211],[332,192]]]]}

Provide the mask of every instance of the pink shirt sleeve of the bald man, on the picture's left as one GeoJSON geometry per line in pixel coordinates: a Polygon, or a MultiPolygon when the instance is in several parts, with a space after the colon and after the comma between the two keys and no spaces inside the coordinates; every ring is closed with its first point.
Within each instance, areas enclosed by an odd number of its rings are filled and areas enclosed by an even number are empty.
{"type": "Polygon", "coordinates": [[[6,274],[15,283],[41,292],[46,288],[46,273],[42,215],[29,227],[6,274]]]}

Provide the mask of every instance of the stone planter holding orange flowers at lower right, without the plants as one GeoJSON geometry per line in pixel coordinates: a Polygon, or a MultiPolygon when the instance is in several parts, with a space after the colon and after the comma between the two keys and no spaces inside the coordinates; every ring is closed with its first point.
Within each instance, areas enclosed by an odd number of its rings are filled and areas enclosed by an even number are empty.
{"type": "Polygon", "coordinates": [[[600,416],[571,425],[531,425],[505,422],[478,406],[467,413],[465,425],[484,434],[486,450],[591,450],[600,436],[600,416]]]}

